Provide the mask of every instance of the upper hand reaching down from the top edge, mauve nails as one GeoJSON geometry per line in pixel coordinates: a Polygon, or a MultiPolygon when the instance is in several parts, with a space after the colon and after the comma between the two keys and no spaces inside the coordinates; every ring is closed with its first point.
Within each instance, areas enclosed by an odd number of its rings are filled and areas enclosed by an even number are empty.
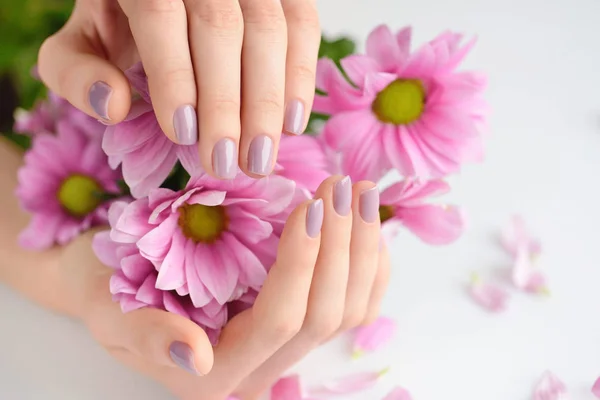
{"type": "Polygon", "coordinates": [[[39,73],[113,124],[130,107],[122,70],[141,60],[171,140],[199,137],[203,167],[215,176],[232,178],[238,162],[263,176],[282,130],[305,128],[319,43],[315,0],[78,0],[42,46],[39,73]]]}

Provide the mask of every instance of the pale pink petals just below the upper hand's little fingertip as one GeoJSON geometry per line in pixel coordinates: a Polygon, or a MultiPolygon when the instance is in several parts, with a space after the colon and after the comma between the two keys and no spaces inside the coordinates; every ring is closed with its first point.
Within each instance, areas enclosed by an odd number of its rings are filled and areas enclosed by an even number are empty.
{"type": "Polygon", "coordinates": [[[322,143],[308,135],[281,137],[275,173],[293,180],[298,187],[313,194],[331,175],[322,143]]]}

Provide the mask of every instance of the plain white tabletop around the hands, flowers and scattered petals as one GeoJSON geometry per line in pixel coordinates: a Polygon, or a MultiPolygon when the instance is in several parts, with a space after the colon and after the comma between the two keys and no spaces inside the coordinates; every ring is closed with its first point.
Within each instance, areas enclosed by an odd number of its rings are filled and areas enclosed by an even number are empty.
{"type": "MultiPolygon", "coordinates": [[[[490,76],[493,136],[487,161],[452,180],[470,213],[462,240],[431,248],[405,235],[393,245],[385,313],[395,343],[357,364],[336,342],[300,365],[308,382],[351,370],[393,369],[381,398],[402,384],[415,400],[526,400],[546,368],[573,400],[591,400],[600,375],[600,1],[321,0],[327,32],[364,37],[376,24],[412,24],[422,42],[446,29],[478,34],[467,66],[490,76]],[[348,4],[354,3],[353,6],[348,4]],[[344,6],[344,11],[337,11],[344,6]],[[473,270],[509,260],[494,235],[523,213],[545,246],[553,296],[515,293],[490,316],[464,295],[473,270]]],[[[0,288],[0,399],[171,400],[113,362],[77,324],[0,288]]],[[[199,399],[200,400],[200,399],[199,399]]]]}

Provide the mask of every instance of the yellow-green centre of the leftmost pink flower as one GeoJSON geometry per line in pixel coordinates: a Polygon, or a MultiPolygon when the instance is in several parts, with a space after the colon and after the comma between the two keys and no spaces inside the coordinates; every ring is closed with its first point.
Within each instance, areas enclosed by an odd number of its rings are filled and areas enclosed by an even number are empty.
{"type": "Polygon", "coordinates": [[[85,217],[102,203],[102,187],[93,178],[71,175],[58,189],[60,205],[74,217],[85,217]]]}

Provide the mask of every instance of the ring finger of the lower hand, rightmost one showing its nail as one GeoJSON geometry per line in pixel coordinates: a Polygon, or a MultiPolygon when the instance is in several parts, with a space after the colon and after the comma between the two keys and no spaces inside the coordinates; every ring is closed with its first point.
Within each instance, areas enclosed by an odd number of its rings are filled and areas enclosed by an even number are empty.
{"type": "Polygon", "coordinates": [[[365,319],[379,259],[379,189],[372,182],[359,182],[353,191],[350,273],[342,331],[365,319]]]}

